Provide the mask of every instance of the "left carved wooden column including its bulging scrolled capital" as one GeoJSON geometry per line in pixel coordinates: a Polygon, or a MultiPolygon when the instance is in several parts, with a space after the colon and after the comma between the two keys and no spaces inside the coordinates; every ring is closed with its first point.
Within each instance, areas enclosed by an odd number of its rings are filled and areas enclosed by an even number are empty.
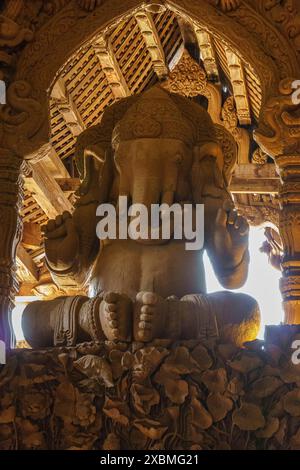
{"type": "Polygon", "coordinates": [[[43,155],[47,145],[39,130],[47,124],[46,117],[46,106],[32,97],[28,82],[10,84],[7,105],[0,106],[0,340],[6,350],[15,342],[11,313],[17,289],[16,249],[22,235],[21,166],[25,157],[32,161],[36,149],[43,155]]]}

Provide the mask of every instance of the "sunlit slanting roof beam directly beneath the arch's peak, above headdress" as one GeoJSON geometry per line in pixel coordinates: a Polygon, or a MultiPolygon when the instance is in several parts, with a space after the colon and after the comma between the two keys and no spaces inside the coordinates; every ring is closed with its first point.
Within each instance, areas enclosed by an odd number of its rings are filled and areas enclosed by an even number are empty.
{"type": "Polygon", "coordinates": [[[149,51],[153,69],[158,78],[163,80],[168,76],[169,69],[152,15],[146,10],[141,10],[135,14],[135,19],[149,51]]]}

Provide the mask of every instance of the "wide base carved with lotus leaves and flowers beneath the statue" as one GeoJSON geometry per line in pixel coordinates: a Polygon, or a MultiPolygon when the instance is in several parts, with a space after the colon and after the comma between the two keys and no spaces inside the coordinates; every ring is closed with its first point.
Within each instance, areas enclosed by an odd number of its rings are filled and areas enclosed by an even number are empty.
{"type": "Polygon", "coordinates": [[[0,449],[300,449],[292,352],[259,341],[17,350],[0,374],[0,449]]]}

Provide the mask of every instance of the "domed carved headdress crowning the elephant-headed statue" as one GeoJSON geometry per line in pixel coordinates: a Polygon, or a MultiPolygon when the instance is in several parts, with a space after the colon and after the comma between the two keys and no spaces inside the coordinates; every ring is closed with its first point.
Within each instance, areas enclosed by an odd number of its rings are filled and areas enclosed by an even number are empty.
{"type": "Polygon", "coordinates": [[[105,153],[110,151],[112,144],[115,146],[120,141],[137,138],[170,138],[200,147],[214,143],[214,156],[222,160],[219,166],[229,184],[236,162],[236,144],[227,134],[223,127],[213,124],[208,112],[200,105],[156,85],[107,108],[101,123],[86,129],[78,137],[75,160],[83,177],[84,150],[91,144],[105,153]]]}

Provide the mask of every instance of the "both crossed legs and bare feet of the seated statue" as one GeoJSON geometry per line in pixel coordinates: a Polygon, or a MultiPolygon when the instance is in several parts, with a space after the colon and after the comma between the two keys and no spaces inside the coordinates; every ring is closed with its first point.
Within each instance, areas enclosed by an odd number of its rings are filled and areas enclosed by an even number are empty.
{"type": "Polygon", "coordinates": [[[30,303],[22,326],[34,348],[92,341],[140,341],[219,337],[237,345],[256,338],[260,312],[246,294],[216,292],[163,299],[140,292],[132,302],[109,292],[93,299],[59,297],[30,303]]]}

